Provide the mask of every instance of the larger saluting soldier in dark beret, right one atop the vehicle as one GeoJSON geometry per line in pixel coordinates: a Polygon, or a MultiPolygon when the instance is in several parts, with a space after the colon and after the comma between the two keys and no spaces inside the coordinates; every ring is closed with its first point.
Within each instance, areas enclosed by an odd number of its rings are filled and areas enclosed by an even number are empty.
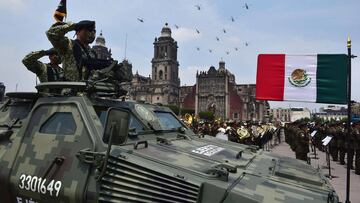
{"type": "Polygon", "coordinates": [[[89,44],[95,40],[95,21],[83,20],[78,23],[58,22],[50,27],[46,35],[59,52],[65,78],[70,81],[87,79],[89,72],[111,64],[109,60],[99,60],[89,44]],[[70,40],[65,34],[75,31],[76,39],[70,40]]]}

